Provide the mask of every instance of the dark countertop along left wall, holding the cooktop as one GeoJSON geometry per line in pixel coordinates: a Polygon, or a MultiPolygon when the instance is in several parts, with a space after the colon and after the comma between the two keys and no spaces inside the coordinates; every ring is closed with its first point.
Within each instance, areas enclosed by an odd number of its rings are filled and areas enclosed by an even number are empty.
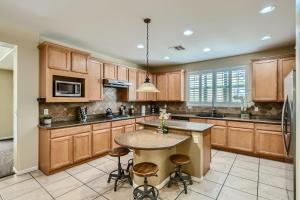
{"type": "Polygon", "coordinates": [[[90,125],[90,124],[96,124],[96,123],[102,123],[102,122],[120,121],[120,120],[126,120],[126,119],[135,119],[138,117],[147,117],[147,116],[156,116],[156,115],[157,114],[136,114],[133,116],[114,118],[114,119],[107,118],[105,116],[99,116],[99,117],[88,118],[87,122],[80,122],[79,120],[54,122],[51,125],[40,124],[39,127],[45,128],[45,129],[68,128],[68,127],[74,127],[74,126],[90,125]]]}

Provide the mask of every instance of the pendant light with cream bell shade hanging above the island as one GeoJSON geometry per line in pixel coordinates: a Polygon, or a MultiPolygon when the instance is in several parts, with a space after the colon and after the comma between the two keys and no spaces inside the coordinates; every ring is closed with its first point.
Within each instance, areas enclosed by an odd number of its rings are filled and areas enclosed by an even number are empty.
{"type": "Polygon", "coordinates": [[[140,85],[140,87],[136,90],[137,92],[159,92],[159,90],[155,87],[149,78],[149,24],[151,19],[146,18],[144,22],[147,24],[147,54],[146,54],[146,61],[147,61],[147,73],[145,82],[140,85]]]}

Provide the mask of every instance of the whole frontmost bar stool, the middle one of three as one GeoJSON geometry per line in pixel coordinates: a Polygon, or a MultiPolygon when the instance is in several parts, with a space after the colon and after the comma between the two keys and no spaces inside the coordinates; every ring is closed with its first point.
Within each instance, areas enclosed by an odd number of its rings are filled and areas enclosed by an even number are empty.
{"type": "Polygon", "coordinates": [[[148,185],[147,178],[150,176],[157,176],[158,166],[150,162],[142,162],[133,166],[133,173],[137,176],[144,177],[144,185],[140,185],[133,190],[133,197],[135,200],[158,199],[158,189],[152,185],[148,185]]]}

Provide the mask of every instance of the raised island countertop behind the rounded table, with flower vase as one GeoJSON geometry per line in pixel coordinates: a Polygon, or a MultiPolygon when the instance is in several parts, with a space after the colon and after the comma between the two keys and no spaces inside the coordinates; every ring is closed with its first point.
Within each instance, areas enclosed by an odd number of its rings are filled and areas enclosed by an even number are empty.
{"type": "MultiPolygon", "coordinates": [[[[146,126],[155,126],[155,127],[160,126],[160,120],[137,122],[137,123],[142,124],[142,125],[146,125],[146,126]]],[[[207,129],[212,128],[214,125],[213,124],[206,124],[206,123],[180,121],[180,120],[168,120],[167,126],[170,129],[203,132],[207,129]]]]}

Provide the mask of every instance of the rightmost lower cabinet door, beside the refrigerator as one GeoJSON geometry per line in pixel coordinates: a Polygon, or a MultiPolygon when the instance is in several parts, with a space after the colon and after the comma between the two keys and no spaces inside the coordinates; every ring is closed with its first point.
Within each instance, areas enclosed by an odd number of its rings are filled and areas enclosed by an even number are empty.
{"type": "Polygon", "coordinates": [[[284,156],[282,133],[256,130],[256,151],[272,156],[284,156]]]}

